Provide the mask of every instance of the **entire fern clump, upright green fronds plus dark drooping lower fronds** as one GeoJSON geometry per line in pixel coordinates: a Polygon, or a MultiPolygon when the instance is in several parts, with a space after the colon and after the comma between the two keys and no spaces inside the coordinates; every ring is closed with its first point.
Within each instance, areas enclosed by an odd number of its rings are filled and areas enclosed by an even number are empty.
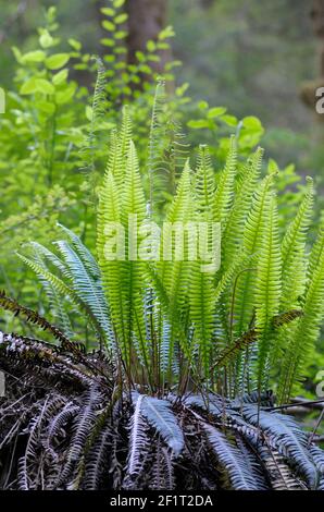
{"type": "Polygon", "coordinates": [[[54,251],[34,242],[20,254],[59,328],[0,297],[58,340],[1,337],[1,369],[24,382],[2,404],[2,487],[322,489],[315,432],[278,413],[267,391],[278,406],[290,400],[321,326],[323,225],[306,253],[312,180],[282,235],[262,150],[240,162],[233,137],[215,173],[202,146],[195,170],[187,159],[179,175],[188,148],[170,136],[161,110],[158,89],[142,173],[127,109],[112,133],[97,258],[64,227],[54,251]],[[167,176],[176,193],[161,207],[167,176]],[[127,232],[128,215],[145,223],[163,212],[171,223],[221,222],[220,268],[105,258],[107,223],[127,232]],[[94,353],[74,340],[72,309],[96,332],[94,353]]]}

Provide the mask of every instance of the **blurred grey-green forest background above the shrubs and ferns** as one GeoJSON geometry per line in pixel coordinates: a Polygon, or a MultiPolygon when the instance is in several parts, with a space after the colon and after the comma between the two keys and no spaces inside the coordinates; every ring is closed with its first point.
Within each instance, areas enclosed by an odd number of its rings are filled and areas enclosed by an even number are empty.
{"type": "MultiPolygon", "coordinates": [[[[265,126],[263,146],[284,167],[324,175],[324,124],[312,103],[321,84],[324,33],[322,0],[128,0],[129,47],[137,47],[165,24],[173,25],[177,82],[211,106],[228,107],[239,119],[257,115],[265,126]],[[145,16],[144,16],[145,14],[145,16]],[[323,25],[323,26],[322,26],[323,25]],[[320,37],[319,37],[320,36],[320,37]],[[311,81],[310,86],[304,86],[311,81]],[[313,82],[312,82],[313,81],[313,82]],[[311,92],[311,99],[308,94],[311,92]]],[[[104,0],[0,0],[0,85],[13,78],[13,45],[24,51],[37,40],[49,5],[58,9],[63,38],[79,39],[100,54],[100,8],[104,0]]],[[[132,48],[130,48],[132,51],[132,48]]],[[[322,81],[324,82],[324,80],[322,81]]],[[[321,181],[321,180],[320,180],[321,181]]]]}

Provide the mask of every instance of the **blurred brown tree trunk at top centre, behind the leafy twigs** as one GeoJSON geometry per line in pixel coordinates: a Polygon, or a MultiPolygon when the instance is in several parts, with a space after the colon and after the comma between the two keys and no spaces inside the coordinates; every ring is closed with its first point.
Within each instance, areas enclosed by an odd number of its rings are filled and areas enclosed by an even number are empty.
{"type": "MultiPolygon", "coordinates": [[[[136,62],[136,51],[146,49],[149,39],[157,40],[166,23],[167,0],[127,0],[128,13],[128,62],[136,62]]],[[[162,73],[170,52],[160,53],[161,61],[152,66],[162,73]]]]}

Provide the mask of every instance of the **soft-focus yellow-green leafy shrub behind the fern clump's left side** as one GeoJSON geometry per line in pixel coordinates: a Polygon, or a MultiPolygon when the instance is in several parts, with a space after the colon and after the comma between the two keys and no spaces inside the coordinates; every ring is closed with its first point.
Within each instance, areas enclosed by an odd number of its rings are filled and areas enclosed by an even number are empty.
{"type": "MultiPolygon", "coordinates": [[[[88,230],[94,221],[94,192],[105,166],[108,133],[119,119],[116,107],[129,102],[133,114],[140,119],[141,130],[148,126],[147,100],[151,95],[141,88],[149,90],[151,85],[144,81],[140,63],[136,69],[127,68],[122,51],[126,32],[121,37],[120,31],[125,19],[123,7],[112,2],[112,10],[110,19],[117,16],[111,34],[114,46],[104,47],[104,52],[109,52],[104,65],[99,58],[92,60],[84,52],[76,39],[62,40],[55,8],[48,10],[34,48],[25,52],[13,48],[15,75],[12,90],[7,94],[5,115],[0,119],[1,265],[5,267],[1,281],[5,281],[7,288],[20,287],[34,304],[39,297],[28,285],[24,267],[18,272],[12,265],[12,249],[32,237],[38,242],[54,240],[58,220],[74,225],[94,248],[95,237],[88,230]],[[114,56],[116,61],[111,60],[114,56]],[[96,73],[94,100],[89,101],[96,73]],[[127,83],[129,94],[122,90],[122,82],[127,83]],[[87,87],[82,85],[85,83],[87,87]],[[87,180],[84,171],[88,173],[87,180]]],[[[146,68],[159,59],[154,54],[162,49],[161,45],[167,47],[172,34],[167,28],[159,36],[155,49],[149,45],[141,58],[146,68]]],[[[152,72],[150,76],[155,75],[152,72]]],[[[123,154],[122,160],[125,161],[123,154]]]]}

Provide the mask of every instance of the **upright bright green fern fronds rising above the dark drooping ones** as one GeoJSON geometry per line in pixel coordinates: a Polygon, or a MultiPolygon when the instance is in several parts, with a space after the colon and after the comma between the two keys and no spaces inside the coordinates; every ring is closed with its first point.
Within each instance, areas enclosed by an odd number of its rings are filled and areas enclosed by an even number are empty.
{"type": "MultiPolygon", "coordinates": [[[[25,261],[58,293],[88,312],[99,338],[107,316],[111,330],[103,341],[109,351],[117,346],[112,354],[124,366],[129,385],[149,386],[163,394],[166,386],[183,390],[191,379],[198,389],[204,382],[233,395],[253,388],[262,392],[270,383],[278,383],[281,401],[288,400],[313,350],[323,312],[322,234],[308,271],[304,265],[311,180],[283,236],[274,192],[276,175],[260,176],[262,150],[239,166],[232,137],[224,168],[214,173],[212,158],[202,146],[194,170],[187,161],[165,214],[157,217],[162,243],[172,233],[170,224],[166,230],[162,225],[163,220],[186,227],[183,257],[176,257],[175,246],[169,257],[162,246],[155,253],[150,246],[147,253],[147,236],[152,234],[147,223],[154,209],[149,199],[151,187],[155,194],[163,191],[154,172],[149,181],[145,179],[132,133],[124,109],[98,191],[97,257],[102,284],[92,256],[68,231],[75,247],[55,244],[64,261],[49,256],[61,278],[35,260],[25,261]],[[134,219],[138,230],[135,246],[128,237],[134,219]],[[221,223],[221,261],[203,259],[201,254],[192,258],[195,222],[221,223]],[[116,251],[111,256],[112,247],[116,251]],[[278,361],[283,361],[279,371],[278,361]]],[[[163,138],[160,130],[151,131],[148,162],[160,133],[163,138]]],[[[149,171],[152,168],[151,163],[142,166],[149,171]]],[[[211,232],[205,236],[210,245],[211,232]]]]}

